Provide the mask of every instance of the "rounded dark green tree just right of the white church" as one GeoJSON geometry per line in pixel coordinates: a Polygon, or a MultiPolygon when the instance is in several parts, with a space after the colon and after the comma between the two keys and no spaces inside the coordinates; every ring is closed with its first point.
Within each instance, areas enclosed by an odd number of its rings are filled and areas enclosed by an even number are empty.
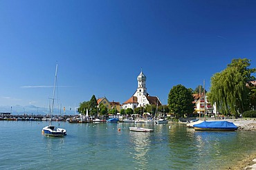
{"type": "Polygon", "coordinates": [[[176,118],[194,112],[193,100],[192,90],[183,85],[176,85],[170,89],[168,104],[170,111],[175,114],[176,118]]]}

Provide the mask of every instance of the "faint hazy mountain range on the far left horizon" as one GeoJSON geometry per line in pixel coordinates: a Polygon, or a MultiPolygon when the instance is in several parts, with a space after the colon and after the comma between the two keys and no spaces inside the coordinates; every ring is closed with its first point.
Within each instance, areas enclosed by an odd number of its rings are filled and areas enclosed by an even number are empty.
{"type": "MultiPolygon", "coordinates": [[[[0,113],[12,113],[12,114],[49,114],[50,109],[45,107],[37,107],[35,105],[14,105],[14,106],[0,106],[0,113]]],[[[62,109],[60,113],[60,109],[54,109],[53,114],[64,114],[62,109]]],[[[66,110],[65,114],[75,114],[73,110],[66,110]]]]}

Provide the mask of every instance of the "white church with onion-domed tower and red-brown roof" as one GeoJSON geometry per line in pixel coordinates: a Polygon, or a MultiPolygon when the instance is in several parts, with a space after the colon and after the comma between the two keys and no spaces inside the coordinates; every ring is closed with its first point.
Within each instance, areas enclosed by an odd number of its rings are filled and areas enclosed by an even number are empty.
{"type": "Polygon", "coordinates": [[[145,107],[146,105],[162,105],[157,96],[149,96],[147,93],[147,77],[143,74],[142,70],[137,77],[137,81],[138,87],[136,92],[125,103],[122,103],[122,109],[135,109],[136,107],[145,107]]]}

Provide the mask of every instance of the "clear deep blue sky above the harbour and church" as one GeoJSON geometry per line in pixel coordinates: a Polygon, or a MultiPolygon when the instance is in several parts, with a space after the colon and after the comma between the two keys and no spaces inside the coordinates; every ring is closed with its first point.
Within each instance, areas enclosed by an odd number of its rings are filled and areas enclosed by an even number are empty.
{"type": "Polygon", "coordinates": [[[124,103],[141,67],[167,103],[174,85],[210,88],[232,59],[256,67],[256,1],[0,1],[0,105],[48,107],[56,61],[65,107],[124,103]],[[50,87],[48,87],[50,86],[50,87]]]}

